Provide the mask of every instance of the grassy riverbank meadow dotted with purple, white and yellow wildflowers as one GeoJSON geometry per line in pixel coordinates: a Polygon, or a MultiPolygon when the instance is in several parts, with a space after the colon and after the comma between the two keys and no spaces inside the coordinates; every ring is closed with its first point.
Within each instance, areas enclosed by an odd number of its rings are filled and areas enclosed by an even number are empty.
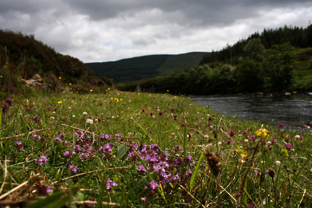
{"type": "Polygon", "coordinates": [[[311,134],[183,95],[3,94],[0,206],[312,207],[311,134]]]}

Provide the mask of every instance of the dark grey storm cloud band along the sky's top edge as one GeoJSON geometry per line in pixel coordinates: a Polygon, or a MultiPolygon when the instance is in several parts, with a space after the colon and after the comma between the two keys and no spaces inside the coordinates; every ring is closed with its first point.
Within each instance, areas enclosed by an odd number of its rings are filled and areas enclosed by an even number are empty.
{"type": "Polygon", "coordinates": [[[116,18],[120,16],[131,17],[142,10],[159,9],[165,17],[154,20],[174,21],[181,25],[209,26],[219,24],[231,24],[237,19],[254,17],[259,10],[269,11],[275,7],[294,7],[294,4],[310,4],[311,1],[202,1],[202,0],[109,0],[109,1],[85,1],[70,0],[68,4],[77,12],[88,15],[92,20],[116,18]],[[173,15],[176,14],[175,18],[173,15]],[[165,19],[166,20],[166,19],[165,19]]]}

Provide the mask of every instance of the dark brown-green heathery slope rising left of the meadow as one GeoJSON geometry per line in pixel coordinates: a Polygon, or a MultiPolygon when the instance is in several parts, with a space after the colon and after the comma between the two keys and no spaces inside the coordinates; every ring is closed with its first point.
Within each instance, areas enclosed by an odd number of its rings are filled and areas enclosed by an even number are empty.
{"type": "MultiPolygon", "coordinates": [[[[79,59],[62,55],[35,39],[34,35],[0,29],[0,84],[2,89],[17,88],[23,92],[24,82],[39,75],[38,89],[63,92],[65,89],[85,93],[99,87],[106,92],[111,81],[95,77],[79,59]]],[[[28,84],[27,84],[28,85],[28,84]]]]}

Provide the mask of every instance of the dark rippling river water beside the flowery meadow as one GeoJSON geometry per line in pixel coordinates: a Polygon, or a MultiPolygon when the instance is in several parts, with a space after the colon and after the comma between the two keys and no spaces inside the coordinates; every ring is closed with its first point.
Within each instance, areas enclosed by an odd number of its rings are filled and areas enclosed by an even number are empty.
{"type": "Polygon", "coordinates": [[[226,116],[259,119],[261,123],[302,126],[312,121],[312,96],[309,95],[212,95],[189,99],[201,106],[210,104],[210,109],[226,116]]]}

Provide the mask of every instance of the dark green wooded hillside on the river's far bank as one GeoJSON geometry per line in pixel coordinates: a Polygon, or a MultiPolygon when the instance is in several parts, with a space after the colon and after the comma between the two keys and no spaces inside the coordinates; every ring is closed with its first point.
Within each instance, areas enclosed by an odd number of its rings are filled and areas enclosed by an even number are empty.
{"type": "Polygon", "coordinates": [[[204,55],[195,68],[117,86],[197,95],[312,91],[311,37],[311,24],[264,29],[204,55]]]}

